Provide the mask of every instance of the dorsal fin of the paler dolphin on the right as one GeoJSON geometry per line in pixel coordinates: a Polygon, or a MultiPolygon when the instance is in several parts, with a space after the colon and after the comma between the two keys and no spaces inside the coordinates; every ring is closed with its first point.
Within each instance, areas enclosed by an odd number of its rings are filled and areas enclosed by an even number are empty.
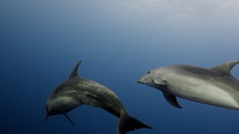
{"type": "Polygon", "coordinates": [[[219,65],[217,65],[215,68],[211,68],[211,70],[215,70],[217,72],[230,75],[231,74],[231,69],[238,63],[239,63],[239,61],[230,61],[230,62],[219,64],[219,65]]]}

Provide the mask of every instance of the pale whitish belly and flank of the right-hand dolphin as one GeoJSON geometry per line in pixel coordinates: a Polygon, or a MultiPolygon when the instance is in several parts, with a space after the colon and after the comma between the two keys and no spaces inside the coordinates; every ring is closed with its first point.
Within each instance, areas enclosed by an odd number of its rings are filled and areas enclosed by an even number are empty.
{"type": "Polygon", "coordinates": [[[233,89],[221,83],[219,86],[217,82],[212,81],[212,79],[180,78],[169,82],[168,89],[172,94],[182,99],[239,110],[239,104],[233,97],[235,94],[230,92],[233,89]]]}

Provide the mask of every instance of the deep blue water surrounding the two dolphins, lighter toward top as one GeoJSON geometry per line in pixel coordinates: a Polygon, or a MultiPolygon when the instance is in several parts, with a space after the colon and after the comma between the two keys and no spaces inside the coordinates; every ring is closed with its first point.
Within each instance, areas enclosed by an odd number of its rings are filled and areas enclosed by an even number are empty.
{"type": "MultiPolygon", "coordinates": [[[[118,94],[131,115],[153,126],[130,134],[237,134],[239,112],[179,99],[136,83],[148,70],[205,68],[239,60],[237,1],[1,0],[0,133],[116,134],[117,117],[80,106],[46,115],[52,90],[79,60],[81,76],[118,94]]],[[[239,79],[239,66],[232,70],[239,79]]]]}

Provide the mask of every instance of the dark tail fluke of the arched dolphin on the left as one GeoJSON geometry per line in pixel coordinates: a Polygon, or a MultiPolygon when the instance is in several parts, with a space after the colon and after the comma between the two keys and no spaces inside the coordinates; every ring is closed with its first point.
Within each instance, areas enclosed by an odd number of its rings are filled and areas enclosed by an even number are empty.
{"type": "Polygon", "coordinates": [[[118,122],[118,134],[126,134],[129,131],[139,128],[152,128],[130,115],[122,115],[118,122]]]}

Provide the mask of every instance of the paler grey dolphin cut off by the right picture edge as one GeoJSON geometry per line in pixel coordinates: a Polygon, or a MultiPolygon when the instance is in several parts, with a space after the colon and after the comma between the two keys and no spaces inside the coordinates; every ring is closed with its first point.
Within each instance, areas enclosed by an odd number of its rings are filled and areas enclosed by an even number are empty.
{"type": "Polygon", "coordinates": [[[162,91],[172,106],[181,109],[177,96],[186,100],[239,110],[239,81],[231,69],[239,61],[222,63],[211,69],[176,64],[155,69],[137,82],[162,91]]]}

